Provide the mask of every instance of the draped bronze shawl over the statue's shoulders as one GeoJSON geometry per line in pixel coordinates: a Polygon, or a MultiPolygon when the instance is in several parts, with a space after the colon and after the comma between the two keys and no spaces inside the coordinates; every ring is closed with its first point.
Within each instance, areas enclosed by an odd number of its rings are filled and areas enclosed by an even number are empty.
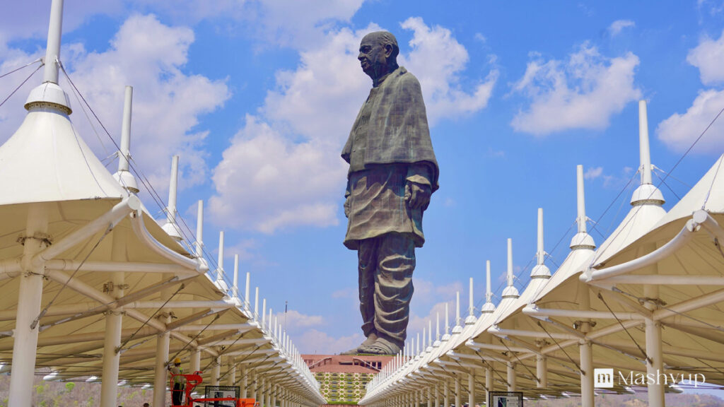
{"type": "MultiPolygon", "coordinates": [[[[364,169],[368,164],[427,162],[432,169],[432,189],[437,190],[439,168],[432,150],[425,104],[417,78],[404,67],[398,67],[377,89],[372,88],[369,98],[373,91],[379,95],[372,99],[364,162],[350,162],[354,130],[342,149],[342,159],[350,164],[350,172],[364,169]]],[[[358,126],[363,108],[355,119],[353,129],[358,126]]]]}

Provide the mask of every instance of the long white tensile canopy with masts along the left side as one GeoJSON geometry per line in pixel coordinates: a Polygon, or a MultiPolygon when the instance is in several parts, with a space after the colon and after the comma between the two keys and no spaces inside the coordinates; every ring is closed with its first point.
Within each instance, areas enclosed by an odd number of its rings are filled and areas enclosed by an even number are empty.
{"type": "MultiPolygon", "coordinates": [[[[10,406],[30,406],[36,374],[100,379],[104,407],[117,406],[119,382],[153,383],[153,406],[164,406],[174,358],[201,370],[204,384],[241,385],[266,405],[324,403],[266,307],[248,303],[248,279],[244,299],[223,282],[222,259],[211,279],[202,251],[169,236],[130,173],[111,175],[76,132],[57,85],[61,20],[54,0],[43,84],[0,146],[0,369],[11,372],[10,406]]],[[[121,161],[130,91],[126,106],[121,161]]]]}

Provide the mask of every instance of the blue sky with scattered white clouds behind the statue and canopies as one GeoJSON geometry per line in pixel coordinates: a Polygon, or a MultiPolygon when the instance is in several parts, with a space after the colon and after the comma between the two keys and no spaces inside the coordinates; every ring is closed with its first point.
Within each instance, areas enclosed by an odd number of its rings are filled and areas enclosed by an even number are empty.
{"type": "MultiPolygon", "coordinates": [[[[287,329],[306,353],[362,339],[356,253],[342,246],[339,153],[371,86],[355,59],[365,33],[397,36],[400,63],[423,88],[440,167],[417,251],[413,335],[456,290],[467,308],[469,277],[481,303],[487,259],[500,295],[507,238],[523,288],[538,207],[557,268],[574,231],[576,164],[586,172],[592,235],[604,240],[638,179],[640,98],[649,102],[652,161],[666,173],[724,107],[720,1],[66,3],[62,61],[73,82],[116,140],[123,87],[134,86],[135,163],[165,201],[170,157],[181,155],[185,222],[195,230],[203,199],[211,256],[224,230],[227,274],[237,253],[274,311],[288,301],[287,329]]],[[[49,1],[3,7],[7,72],[43,54],[49,1]]],[[[0,96],[33,69],[0,79],[0,96]]],[[[0,107],[0,142],[40,80],[0,107]]],[[[70,97],[73,122],[105,159],[112,143],[70,97]]],[[[660,187],[667,208],[722,153],[722,130],[717,122],[660,187]]],[[[150,194],[142,198],[161,218],[150,194]]]]}

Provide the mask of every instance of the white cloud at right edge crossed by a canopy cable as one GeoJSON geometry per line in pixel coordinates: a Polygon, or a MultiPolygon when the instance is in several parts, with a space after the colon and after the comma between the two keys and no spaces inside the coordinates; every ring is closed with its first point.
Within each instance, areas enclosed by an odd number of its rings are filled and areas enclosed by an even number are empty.
{"type": "MultiPolygon", "coordinates": [[[[673,151],[680,153],[686,151],[721,109],[724,109],[724,91],[714,89],[699,91],[699,95],[686,113],[674,113],[659,123],[656,127],[657,136],[673,151]]],[[[720,118],[699,140],[694,151],[719,154],[724,149],[724,138],[720,137],[722,133],[724,133],[724,122],[720,118]]]]}

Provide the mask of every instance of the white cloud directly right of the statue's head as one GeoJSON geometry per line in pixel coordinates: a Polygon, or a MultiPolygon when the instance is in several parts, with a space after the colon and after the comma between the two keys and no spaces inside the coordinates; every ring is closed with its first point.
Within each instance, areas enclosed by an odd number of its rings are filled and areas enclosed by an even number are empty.
{"type": "Polygon", "coordinates": [[[430,125],[439,119],[471,114],[484,109],[498,77],[492,70],[484,80],[463,91],[460,72],[466,69],[468,51],[447,28],[429,27],[420,17],[410,17],[402,28],[413,31],[412,51],[400,55],[400,64],[415,75],[422,87],[430,125]]]}

